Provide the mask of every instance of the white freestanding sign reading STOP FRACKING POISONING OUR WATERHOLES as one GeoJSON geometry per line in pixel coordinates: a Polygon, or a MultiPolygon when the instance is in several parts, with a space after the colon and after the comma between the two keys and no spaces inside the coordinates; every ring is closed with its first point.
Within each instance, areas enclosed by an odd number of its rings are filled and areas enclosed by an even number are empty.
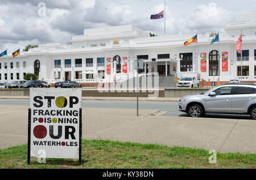
{"type": "Polygon", "coordinates": [[[81,89],[30,89],[30,157],[73,158],[81,162],[81,89]]]}

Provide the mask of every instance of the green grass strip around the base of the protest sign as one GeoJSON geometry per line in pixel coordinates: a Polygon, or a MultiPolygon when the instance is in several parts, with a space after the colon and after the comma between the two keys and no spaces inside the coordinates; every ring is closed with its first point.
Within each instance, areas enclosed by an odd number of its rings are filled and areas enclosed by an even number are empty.
{"type": "Polygon", "coordinates": [[[0,151],[0,168],[256,168],[255,154],[217,153],[217,164],[209,164],[208,151],[156,144],[82,140],[82,160],[47,158],[27,165],[27,145],[0,151]]]}

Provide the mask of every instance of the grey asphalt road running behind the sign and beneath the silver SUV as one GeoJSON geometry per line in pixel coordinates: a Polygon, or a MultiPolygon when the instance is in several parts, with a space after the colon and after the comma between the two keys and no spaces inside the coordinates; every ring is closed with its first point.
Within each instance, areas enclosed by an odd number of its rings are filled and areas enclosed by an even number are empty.
{"type": "MultiPolygon", "coordinates": [[[[0,105],[28,106],[28,100],[0,100],[0,105]]],[[[177,110],[178,102],[139,101],[141,110],[161,110],[161,116],[188,117],[177,110]]],[[[136,101],[90,101],[82,100],[82,108],[137,109],[136,101]]],[[[207,114],[207,118],[250,119],[249,115],[207,114]]]]}

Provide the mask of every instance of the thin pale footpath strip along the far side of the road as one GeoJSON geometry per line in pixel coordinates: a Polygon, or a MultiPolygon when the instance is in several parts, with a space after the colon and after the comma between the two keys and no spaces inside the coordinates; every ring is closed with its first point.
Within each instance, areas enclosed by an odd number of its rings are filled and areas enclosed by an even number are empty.
{"type": "MultiPolygon", "coordinates": [[[[24,100],[29,99],[29,96],[0,96],[0,99],[15,99],[15,100],[24,100]]],[[[137,101],[137,97],[82,97],[82,100],[101,100],[101,101],[137,101]]],[[[148,97],[139,97],[140,101],[170,101],[177,102],[180,100],[180,97],[158,97],[158,98],[148,98],[148,97]]]]}

